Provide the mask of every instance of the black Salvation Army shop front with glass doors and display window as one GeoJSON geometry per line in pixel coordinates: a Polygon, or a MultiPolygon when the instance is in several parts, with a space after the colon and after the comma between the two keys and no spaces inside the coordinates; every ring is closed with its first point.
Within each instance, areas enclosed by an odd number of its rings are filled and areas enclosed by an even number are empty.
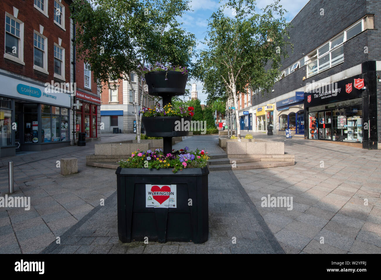
{"type": "Polygon", "coordinates": [[[367,129],[363,123],[365,82],[355,76],[305,93],[308,139],[359,143],[367,129]]]}

